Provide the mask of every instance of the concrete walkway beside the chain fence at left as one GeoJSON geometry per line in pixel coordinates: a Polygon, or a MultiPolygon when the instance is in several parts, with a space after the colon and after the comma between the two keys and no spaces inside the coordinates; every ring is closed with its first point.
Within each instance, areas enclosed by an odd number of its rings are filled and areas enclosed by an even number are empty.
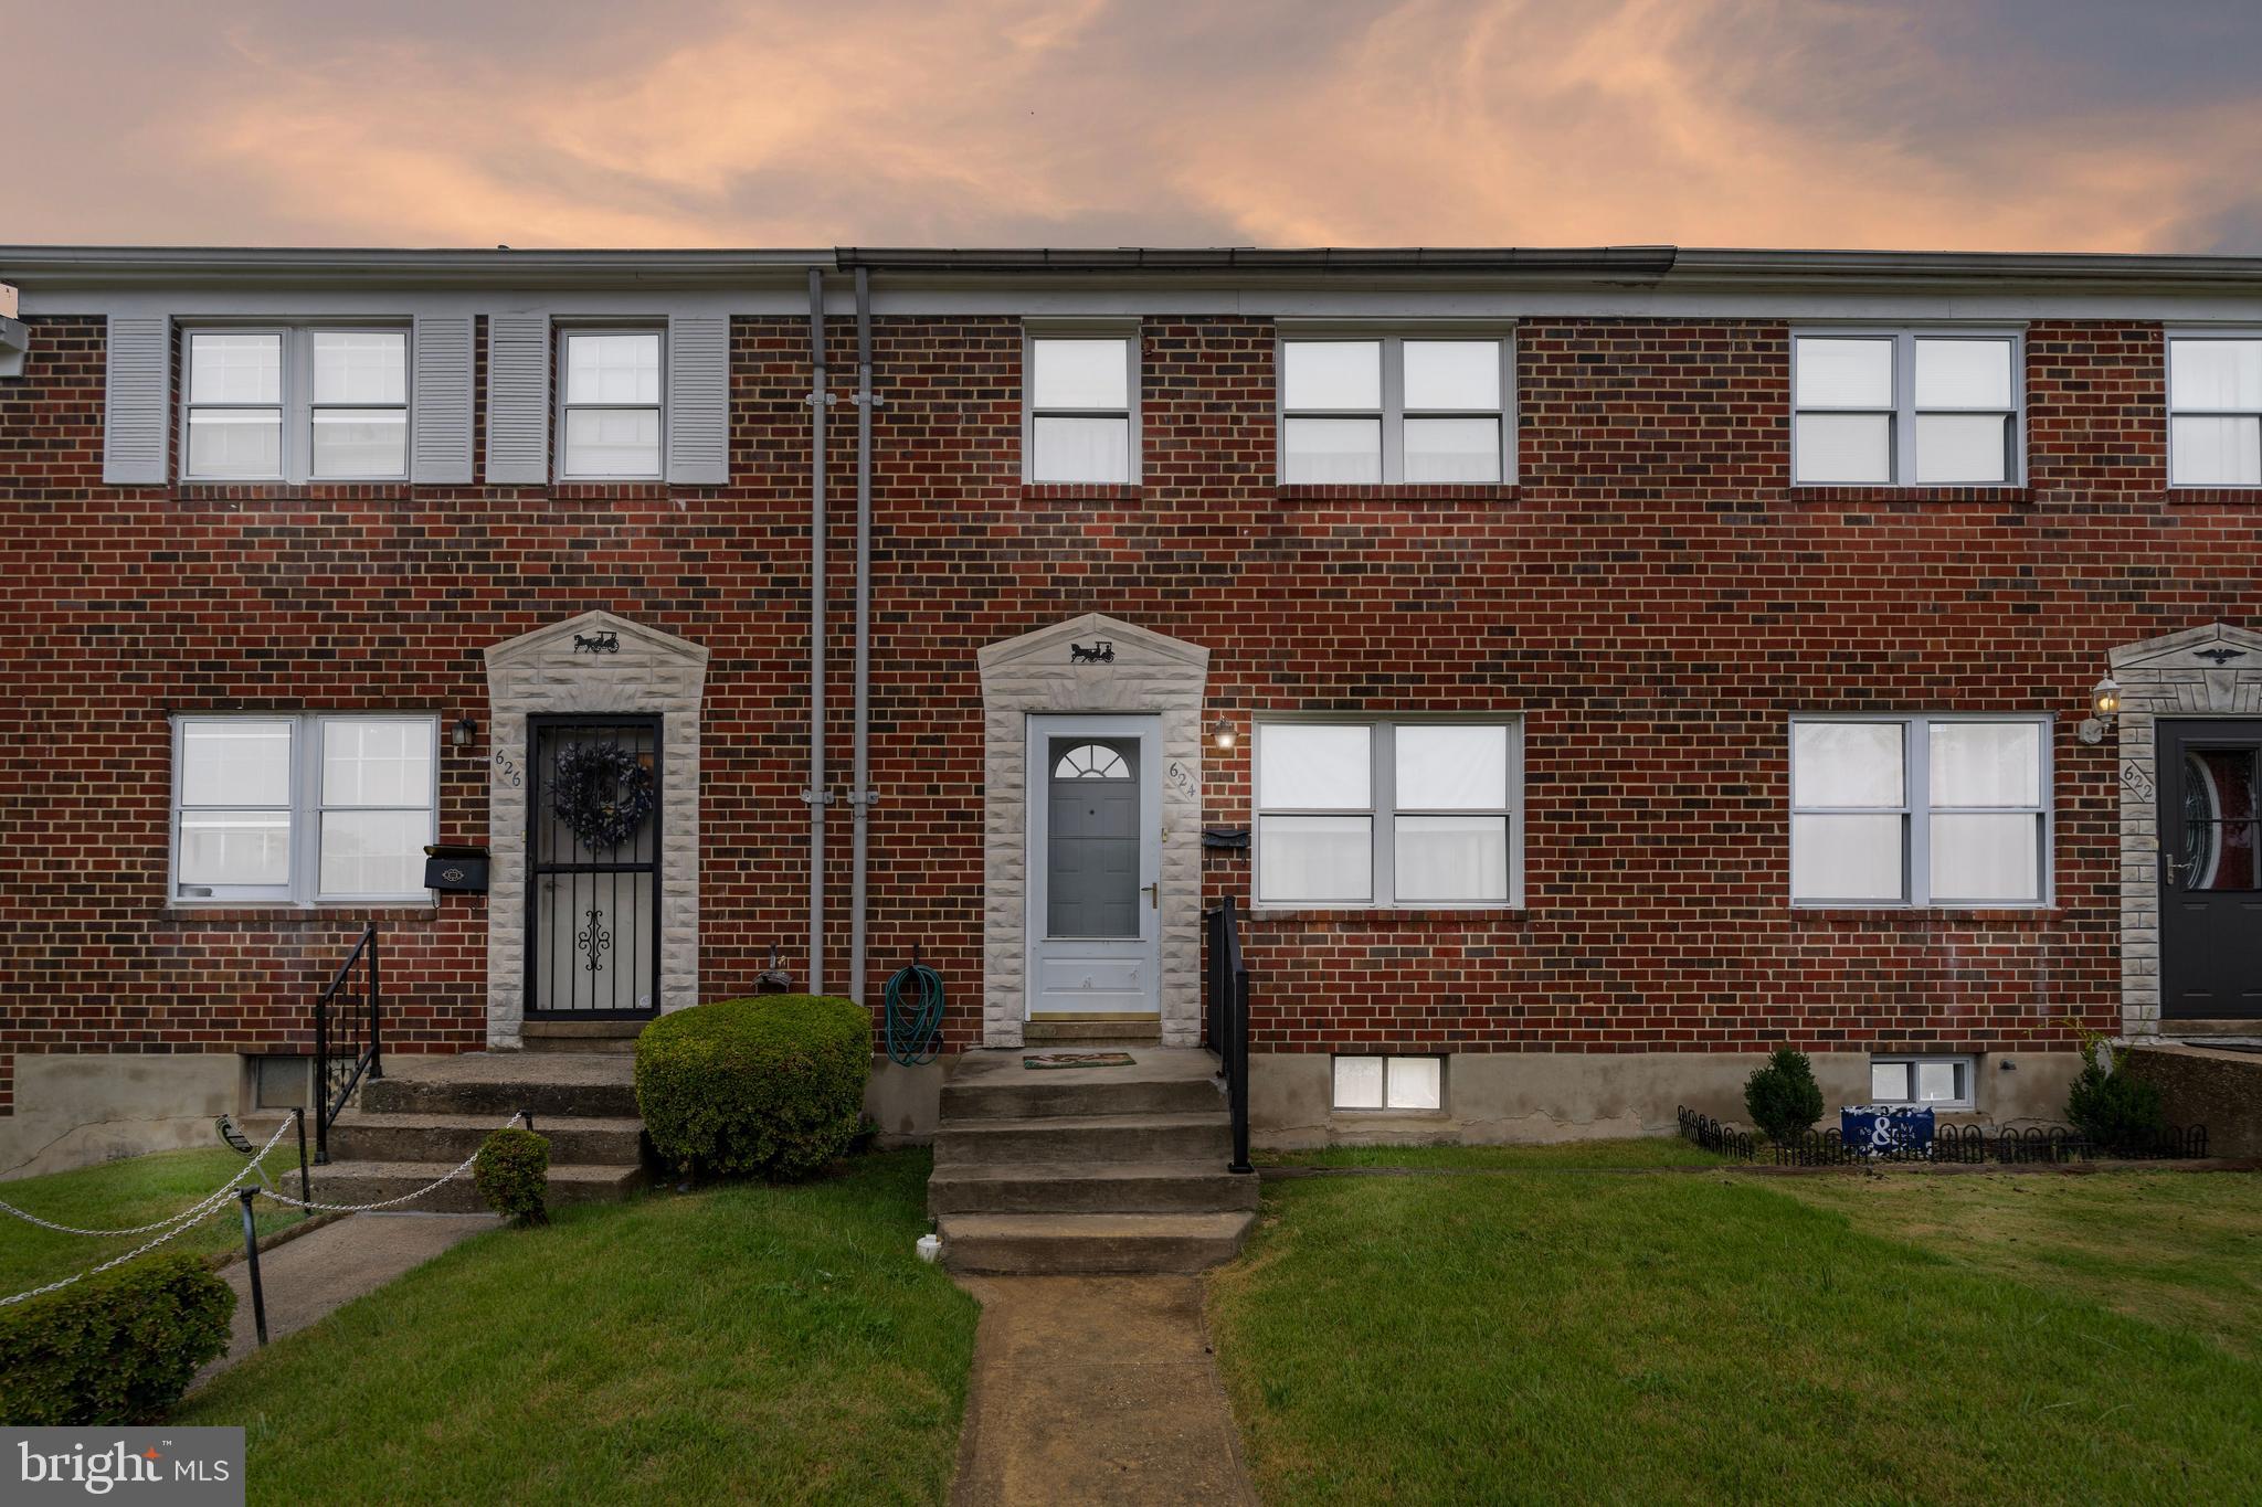
{"type": "MultiPolygon", "coordinates": [[[[364,1292],[375,1292],[457,1240],[502,1225],[493,1213],[348,1213],[260,1252],[260,1290],[267,1295],[267,1340],[296,1333],[364,1292]]],[[[235,1329],[228,1351],[197,1371],[190,1392],[258,1349],[251,1317],[251,1268],[231,1263],[222,1277],[235,1288],[235,1329]]]]}

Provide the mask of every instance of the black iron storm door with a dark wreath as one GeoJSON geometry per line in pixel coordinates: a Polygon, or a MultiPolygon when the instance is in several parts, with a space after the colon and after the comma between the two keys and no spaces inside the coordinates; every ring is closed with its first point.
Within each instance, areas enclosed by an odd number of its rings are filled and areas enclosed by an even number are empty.
{"type": "Polygon", "coordinates": [[[527,1017],[661,1005],[661,718],[532,716],[527,1017]]]}

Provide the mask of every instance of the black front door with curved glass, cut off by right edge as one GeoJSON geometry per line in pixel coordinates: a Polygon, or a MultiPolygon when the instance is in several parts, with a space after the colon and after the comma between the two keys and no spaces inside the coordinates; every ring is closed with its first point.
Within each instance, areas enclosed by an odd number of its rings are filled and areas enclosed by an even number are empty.
{"type": "Polygon", "coordinates": [[[2262,1017],[2262,723],[2160,723],[2160,1014],[2262,1017]]]}

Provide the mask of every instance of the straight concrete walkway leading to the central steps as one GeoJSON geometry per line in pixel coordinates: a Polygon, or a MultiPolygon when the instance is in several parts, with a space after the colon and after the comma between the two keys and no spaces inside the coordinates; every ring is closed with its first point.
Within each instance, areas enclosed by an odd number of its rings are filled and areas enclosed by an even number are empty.
{"type": "Polygon", "coordinates": [[[1233,1502],[1255,1493],[1199,1277],[961,1277],[982,1299],[957,1507],[1233,1502]]]}

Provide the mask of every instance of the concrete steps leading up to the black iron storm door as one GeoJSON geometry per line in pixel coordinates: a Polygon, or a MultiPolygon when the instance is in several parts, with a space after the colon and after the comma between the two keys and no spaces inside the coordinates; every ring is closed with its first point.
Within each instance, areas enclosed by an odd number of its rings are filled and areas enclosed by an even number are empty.
{"type": "MultiPolygon", "coordinates": [[[[369,1204],[421,1188],[477,1152],[513,1112],[532,1114],[536,1134],[550,1139],[552,1207],[627,1197],[645,1182],[633,1064],[622,1051],[554,1046],[387,1057],[385,1078],[364,1082],[357,1105],[330,1125],[330,1164],[314,1168],[314,1197],[369,1204]]],[[[403,1204],[434,1213],[484,1207],[470,1173],[403,1204]]]]}

